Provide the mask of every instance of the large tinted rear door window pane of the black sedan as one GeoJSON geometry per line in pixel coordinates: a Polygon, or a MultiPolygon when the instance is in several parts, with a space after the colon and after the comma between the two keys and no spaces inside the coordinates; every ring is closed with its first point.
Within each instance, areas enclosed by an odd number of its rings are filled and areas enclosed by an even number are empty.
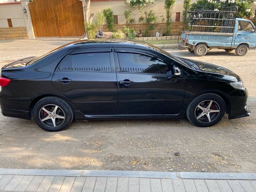
{"type": "Polygon", "coordinates": [[[72,70],[111,71],[109,53],[81,53],[71,55],[72,70]]]}

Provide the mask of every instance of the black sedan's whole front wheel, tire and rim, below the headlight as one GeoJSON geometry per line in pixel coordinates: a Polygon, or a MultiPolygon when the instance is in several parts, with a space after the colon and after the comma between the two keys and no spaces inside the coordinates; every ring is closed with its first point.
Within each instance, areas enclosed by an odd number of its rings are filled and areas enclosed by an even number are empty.
{"type": "Polygon", "coordinates": [[[224,116],[225,112],[225,102],[219,95],[214,93],[205,93],[191,101],[188,105],[186,115],[192,124],[198,127],[209,127],[218,123],[224,116]],[[198,107],[199,105],[200,107],[198,107]]]}

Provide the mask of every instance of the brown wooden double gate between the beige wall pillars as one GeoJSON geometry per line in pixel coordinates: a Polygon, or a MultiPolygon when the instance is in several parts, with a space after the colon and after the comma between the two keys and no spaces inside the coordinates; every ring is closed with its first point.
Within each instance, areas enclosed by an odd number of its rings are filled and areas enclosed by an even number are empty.
{"type": "Polygon", "coordinates": [[[29,3],[36,37],[74,37],[84,34],[80,0],[35,0],[29,3]]]}

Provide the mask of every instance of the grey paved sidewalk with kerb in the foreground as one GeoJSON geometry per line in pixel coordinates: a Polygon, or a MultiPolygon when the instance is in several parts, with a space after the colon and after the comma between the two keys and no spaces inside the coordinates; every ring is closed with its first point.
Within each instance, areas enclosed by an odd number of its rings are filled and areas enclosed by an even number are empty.
{"type": "Polygon", "coordinates": [[[0,169],[0,191],[255,192],[256,173],[0,169]]]}

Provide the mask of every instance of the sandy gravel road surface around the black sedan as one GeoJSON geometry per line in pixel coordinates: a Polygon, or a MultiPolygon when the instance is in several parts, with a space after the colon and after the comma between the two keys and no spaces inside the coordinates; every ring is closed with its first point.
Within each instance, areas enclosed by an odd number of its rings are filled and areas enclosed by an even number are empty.
{"type": "MultiPolygon", "coordinates": [[[[0,66],[41,55],[75,39],[0,41],[0,66]]],[[[256,172],[255,54],[212,50],[196,57],[236,72],[250,92],[252,115],[198,128],[184,120],[79,121],[62,132],[45,132],[33,121],[0,115],[0,167],[193,172],[256,172]],[[179,152],[180,156],[174,156],[179,152]]]]}

